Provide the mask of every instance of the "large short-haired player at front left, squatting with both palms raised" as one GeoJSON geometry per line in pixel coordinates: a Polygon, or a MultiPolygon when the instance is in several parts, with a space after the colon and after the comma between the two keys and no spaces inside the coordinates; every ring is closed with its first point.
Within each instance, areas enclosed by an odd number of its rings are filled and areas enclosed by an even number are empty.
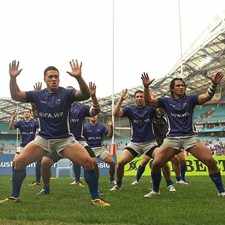
{"type": "MultiPolygon", "coordinates": [[[[13,161],[14,174],[12,178],[13,195],[8,200],[18,201],[21,185],[25,178],[24,167],[34,161],[40,160],[45,153],[56,153],[73,162],[80,163],[87,169],[90,183],[97,182],[94,171],[95,162],[86,149],[71,136],[67,117],[74,101],[87,100],[90,97],[89,89],[82,75],[82,63],[70,61],[71,71],[67,73],[75,78],[80,90],[69,90],[59,86],[59,70],[49,66],[44,71],[44,81],[47,88],[41,91],[22,91],[17,84],[17,76],[22,69],[16,60],[9,64],[10,93],[13,100],[31,102],[37,107],[40,120],[40,132],[36,138],[25,146],[24,150],[13,161]]],[[[98,198],[98,192],[92,196],[95,205],[108,204],[98,198]]]]}

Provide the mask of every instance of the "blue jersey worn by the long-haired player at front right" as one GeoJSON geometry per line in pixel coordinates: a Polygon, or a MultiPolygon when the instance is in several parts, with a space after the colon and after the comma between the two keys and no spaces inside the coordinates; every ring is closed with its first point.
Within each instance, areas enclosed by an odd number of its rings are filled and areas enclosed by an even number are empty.
{"type": "Polygon", "coordinates": [[[169,137],[193,135],[192,115],[198,104],[198,96],[190,95],[182,98],[161,97],[159,106],[164,108],[168,117],[169,137]]]}

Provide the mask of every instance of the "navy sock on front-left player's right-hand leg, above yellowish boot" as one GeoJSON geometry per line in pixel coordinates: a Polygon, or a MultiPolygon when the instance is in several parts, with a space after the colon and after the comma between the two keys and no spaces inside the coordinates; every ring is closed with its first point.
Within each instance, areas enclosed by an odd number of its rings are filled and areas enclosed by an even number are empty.
{"type": "Polygon", "coordinates": [[[84,178],[88,184],[89,192],[91,194],[92,199],[99,198],[98,178],[95,170],[84,169],[84,178]]]}

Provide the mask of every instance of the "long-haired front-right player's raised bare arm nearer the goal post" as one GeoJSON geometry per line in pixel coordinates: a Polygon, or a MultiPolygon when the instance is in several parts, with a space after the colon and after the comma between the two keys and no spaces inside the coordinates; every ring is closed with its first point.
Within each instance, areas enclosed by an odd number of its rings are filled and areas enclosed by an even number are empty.
{"type": "Polygon", "coordinates": [[[141,75],[142,83],[144,86],[145,104],[158,106],[158,99],[153,98],[149,91],[149,85],[154,81],[149,79],[148,73],[143,73],[141,75]]]}

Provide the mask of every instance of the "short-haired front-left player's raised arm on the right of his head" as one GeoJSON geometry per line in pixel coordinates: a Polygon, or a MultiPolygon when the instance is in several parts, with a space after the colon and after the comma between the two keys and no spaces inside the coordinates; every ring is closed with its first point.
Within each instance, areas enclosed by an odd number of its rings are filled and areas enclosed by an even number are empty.
{"type": "Polygon", "coordinates": [[[81,76],[82,62],[79,64],[77,60],[75,61],[72,60],[70,61],[70,67],[71,67],[71,72],[67,71],[67,73],[77,80],[80,87],[80,91],[76,91],[74,93],[76,99],[78,101],[89,99],[90,92],[89,92],[88,86],[86,82],[84,81],[83,77],[81,76]]]}

